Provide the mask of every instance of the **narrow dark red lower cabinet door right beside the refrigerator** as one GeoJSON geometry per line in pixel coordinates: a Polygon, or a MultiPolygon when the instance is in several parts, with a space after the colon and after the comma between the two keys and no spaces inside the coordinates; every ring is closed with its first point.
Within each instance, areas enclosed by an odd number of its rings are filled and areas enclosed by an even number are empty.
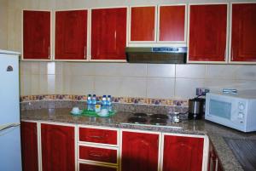
{"type": "Polygon", "coordinates": [[[38,171],[37,123],[20,122],[23,171],[38,171]]]}

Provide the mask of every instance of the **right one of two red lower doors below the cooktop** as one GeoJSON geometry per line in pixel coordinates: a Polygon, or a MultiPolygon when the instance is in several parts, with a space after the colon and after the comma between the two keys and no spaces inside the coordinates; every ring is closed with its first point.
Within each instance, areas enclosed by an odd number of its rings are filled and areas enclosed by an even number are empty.
{"type": "Polygon", "coordinates": [[[203,138],[165,135],[163,171],[201,171],[203,138]]]}

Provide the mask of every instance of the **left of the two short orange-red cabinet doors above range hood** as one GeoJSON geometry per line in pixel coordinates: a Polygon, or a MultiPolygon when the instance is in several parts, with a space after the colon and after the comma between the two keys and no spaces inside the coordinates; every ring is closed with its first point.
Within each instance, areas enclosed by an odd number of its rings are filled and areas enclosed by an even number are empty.
{"type": "Polygon", "coordinates": [[[155,42],[156,7],[131,7],[130,41],[155,42]]]}

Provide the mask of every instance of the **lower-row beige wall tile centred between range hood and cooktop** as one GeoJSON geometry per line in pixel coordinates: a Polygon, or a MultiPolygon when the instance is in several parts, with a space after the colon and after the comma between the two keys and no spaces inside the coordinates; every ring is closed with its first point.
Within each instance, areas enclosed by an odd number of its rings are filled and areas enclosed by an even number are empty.
{"type": "Polygon", "coordinates": [[[148,78],[147,97],[171,99],[174,97],[175,78],[148,78]]]}

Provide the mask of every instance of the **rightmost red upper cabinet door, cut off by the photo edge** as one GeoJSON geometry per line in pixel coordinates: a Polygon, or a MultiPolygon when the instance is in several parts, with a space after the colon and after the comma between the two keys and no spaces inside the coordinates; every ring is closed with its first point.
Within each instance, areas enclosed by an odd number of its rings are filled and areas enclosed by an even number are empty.
{"type": "Polygon", "coordinates": [[[256,3],[232,3],[230,61],[256,62],[256,3]]]}

